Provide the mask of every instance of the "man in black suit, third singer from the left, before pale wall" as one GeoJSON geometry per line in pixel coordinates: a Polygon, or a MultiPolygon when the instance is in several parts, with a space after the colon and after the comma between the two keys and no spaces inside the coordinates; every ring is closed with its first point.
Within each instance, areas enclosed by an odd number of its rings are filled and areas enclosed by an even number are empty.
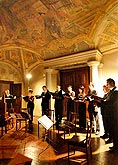
{"type": "Polygon", "coordinates": [[[47,89],[47,87],[44,85],[42,87],[43,92],[40,96],[36,96],[36,99],[40,99],[42,98],[42,115],[49,115],[49,100],[51,98],[51,94],[49,92],[49,90],[47,89]]]}

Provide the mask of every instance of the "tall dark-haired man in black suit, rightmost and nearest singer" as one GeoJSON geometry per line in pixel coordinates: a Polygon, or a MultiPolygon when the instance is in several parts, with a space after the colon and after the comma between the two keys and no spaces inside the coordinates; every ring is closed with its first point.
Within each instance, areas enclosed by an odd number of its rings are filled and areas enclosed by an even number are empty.
{"type": "Polygon", "coordinates": [[[107,87],[110,92],[103,102],[103,105],[109,111],[109,139],[106,143],[113,142],[113,147],[110,147],[110,151],[116,152],[118,151],[118,89],[115,86],[115,81],[111,78],[107,79],[107,87]]]}

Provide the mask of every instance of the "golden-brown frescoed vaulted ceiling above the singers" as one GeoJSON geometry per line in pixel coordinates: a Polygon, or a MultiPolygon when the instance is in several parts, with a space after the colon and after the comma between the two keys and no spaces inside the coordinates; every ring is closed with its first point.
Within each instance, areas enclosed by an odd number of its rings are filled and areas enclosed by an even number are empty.
{"type": "Polygon", "coordinates": [[[118,0],[0,0],[0,61],[46,60],[118,48],[118,0]]]}

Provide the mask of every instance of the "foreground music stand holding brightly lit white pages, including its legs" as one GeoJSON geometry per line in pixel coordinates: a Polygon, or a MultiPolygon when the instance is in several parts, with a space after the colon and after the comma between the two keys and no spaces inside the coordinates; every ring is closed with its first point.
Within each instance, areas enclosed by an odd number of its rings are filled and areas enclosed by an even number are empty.
{"type": "MultiPolygon", "coordinates": [[[[46,130],[49,130],[53,126],[53,122],[46,116],[43,115],[38,119],[38,135],[39,135],[39,123],[45,128],[44,139],[48,139],[49,142],[53,142],[49,137],[47,137],[46,130]]],[[[39,154],[41,155],[44,151],[46,151],[50,147],[50,144],[39,154]]],[[[55,150],[56,151],[56,150],[55,150]]],[[[57,152],[57,151],[56,151],[57,152]]]]}

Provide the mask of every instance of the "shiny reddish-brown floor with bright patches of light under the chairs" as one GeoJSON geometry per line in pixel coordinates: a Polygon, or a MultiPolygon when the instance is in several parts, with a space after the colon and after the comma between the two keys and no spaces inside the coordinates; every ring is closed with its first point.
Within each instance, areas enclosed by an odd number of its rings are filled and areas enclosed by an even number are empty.
{"type": "MultiPolygon", "coordinates": [[[[17,153],[23,154],[32,159],[32,165],[68,165],[67,161],[67,142],[74,135],[66,134],[65,141],[63,132],[56,128],[50,129],[50,138],[43,138],[44,128],[40,125],[40,134],[38,137],[37,119],[34,120],[33,131],[25,133],[24,130],[15,131],[15,128],[9,130],[0,138],[0,165],[7,165],[17,153]]],[[[79,136],[85,136],[78,133],[79,136]]],[[[92,133],[92,153],[90,165],[117,165],[118,153],[110,153],[109,146],[105,141],[92,133]]],[[[84,153],[77,152],[76,156],[83,158],[84,153]]],[[[70,165],[78,164],[71,161],[70,165]]]]}

